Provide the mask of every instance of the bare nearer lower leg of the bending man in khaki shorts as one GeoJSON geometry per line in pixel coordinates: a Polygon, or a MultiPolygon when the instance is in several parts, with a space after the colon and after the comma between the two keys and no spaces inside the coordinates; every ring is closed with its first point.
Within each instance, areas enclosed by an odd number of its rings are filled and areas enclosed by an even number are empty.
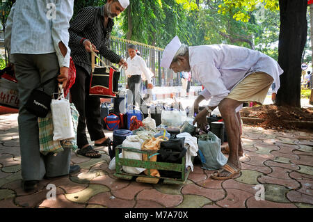
{"type": "MultiPolygon", "coordinates": [[[[230,154],[227,164],[236,170],[241,168],[238,154],[239,143],[241,141],[241,124],[235,110],[241,103],[242,102],[225,98],[218,105],[218,109],[220,110],[225,122],[228,145],[230,146],[230,154]]],[[[220,173],[221,177],[228,175],[230,175],[230,173],[227,171],[222,171],[220,173]]]]}

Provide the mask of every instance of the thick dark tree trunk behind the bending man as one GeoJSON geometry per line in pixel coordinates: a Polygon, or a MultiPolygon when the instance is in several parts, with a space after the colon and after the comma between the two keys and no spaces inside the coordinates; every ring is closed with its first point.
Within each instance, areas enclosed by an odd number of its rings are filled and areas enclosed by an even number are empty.
{"type": "Polygon", "coordinates": [[[301,56],[307,40],[307,0],[279,0],[279,3],[278,63],[284,73],[280,75],[276,104],[300,107],[301,56]]]}

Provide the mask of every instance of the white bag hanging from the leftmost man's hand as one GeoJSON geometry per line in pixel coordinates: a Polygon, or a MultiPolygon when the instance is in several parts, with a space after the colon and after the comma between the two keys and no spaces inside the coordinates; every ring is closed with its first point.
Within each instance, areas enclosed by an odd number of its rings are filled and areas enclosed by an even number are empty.
{"type": "Polygon", "coordinates": [[[56,100],[51,101],[52,121],[54,123],[54,141],[75,138],[70,102],[65,99],[62,85],[59,86],[56,100]]]}

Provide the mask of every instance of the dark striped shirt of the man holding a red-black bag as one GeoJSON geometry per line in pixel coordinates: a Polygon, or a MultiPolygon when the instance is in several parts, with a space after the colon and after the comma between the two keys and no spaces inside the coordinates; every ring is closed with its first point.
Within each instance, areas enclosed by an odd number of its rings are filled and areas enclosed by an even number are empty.
{"type": "Polygon", "coordinates": [[[70,42],[71,56],[75,65],[91,72],[90,53],[83,47],[83,40],[90,40],[99,54],[112,63],[119,63],[121,56],[109,49],[109,39],[111,36],[113,19],[109,18],[107,27],[104,26],[104,6],[86,7],[79,11],[77,17],[70,22],[70,42]]]}

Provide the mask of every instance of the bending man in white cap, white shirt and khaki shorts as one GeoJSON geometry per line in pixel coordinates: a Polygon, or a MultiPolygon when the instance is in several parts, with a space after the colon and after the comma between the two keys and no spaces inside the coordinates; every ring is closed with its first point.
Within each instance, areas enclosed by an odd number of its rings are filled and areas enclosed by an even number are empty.
{"type": "Polygon", "coordinates": [[[194,79],[204,86],[209,105],[195,118],[205,129],[207,115],[217,106],[223,116],[230,154],[227,164],[211,175],[215,180],[227,180],[239,175],[241,164],[241,118],[239,109],[246,101],[264,102],[273,81],[280,87],[283,70],[273,58],[259,51],[234,45],[182,45],[176,36],[163,51],[161,66],[174,72],[191,71],[194,79]]]}

